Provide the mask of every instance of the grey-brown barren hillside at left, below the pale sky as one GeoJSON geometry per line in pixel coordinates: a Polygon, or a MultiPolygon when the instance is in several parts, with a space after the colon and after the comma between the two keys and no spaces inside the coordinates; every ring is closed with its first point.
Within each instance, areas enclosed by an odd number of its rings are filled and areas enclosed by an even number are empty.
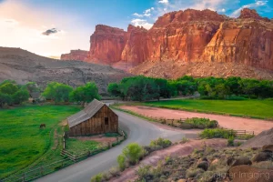
{"type": "Polygon", "coordinates": [[[120,80],[128,74],[110,66],[100,66],[80,61],[60,61],[37,56],[20,48],[0,47],[0,82],[12,79],[24,84],[34,81],[45,86],[49,81],[80,86],[95,81],[101,93],[106,93],[109,82],[120,80]]]}

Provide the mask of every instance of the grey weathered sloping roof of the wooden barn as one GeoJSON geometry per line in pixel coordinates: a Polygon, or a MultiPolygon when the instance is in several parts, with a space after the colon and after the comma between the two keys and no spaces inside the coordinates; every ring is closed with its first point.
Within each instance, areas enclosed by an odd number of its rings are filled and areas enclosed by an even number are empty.
{"type": "Polygon", "coordinates": [[[102,103],[95,98],[86,106],[86,108],[76,113],[75,115],[67,117],[68,126],[73,127],[82,123],[83,121],[86,121],[87,119],[94,116],[103,106],[105,106],[105,103],[102,103]]]}

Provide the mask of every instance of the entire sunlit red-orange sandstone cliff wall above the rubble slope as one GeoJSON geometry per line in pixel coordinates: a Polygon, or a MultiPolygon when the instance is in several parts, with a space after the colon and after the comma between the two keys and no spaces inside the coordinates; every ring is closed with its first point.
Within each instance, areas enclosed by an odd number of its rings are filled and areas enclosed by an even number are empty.
{"type": "Polygon", "coordinates": [[[238,18],[210,10],[172,12],[149,30],[129,25],[125,32],[97,25],[90,42],[92,62],[232,63],[273,70],[273,22],[250,9],[238,18]]]}

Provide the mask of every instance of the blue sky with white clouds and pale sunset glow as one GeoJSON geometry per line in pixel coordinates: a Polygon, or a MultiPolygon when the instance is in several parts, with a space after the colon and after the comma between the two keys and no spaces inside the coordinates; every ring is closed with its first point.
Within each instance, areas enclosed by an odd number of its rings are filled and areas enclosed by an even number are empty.
{"type": "Polygon", "coordinates": [[[0,46],[60,56],[88,50],[97,24],[148,29],[171,11],[211,9],[238,17],[244,7],[273,18],[273,0],[0,0],[0,46]]]}

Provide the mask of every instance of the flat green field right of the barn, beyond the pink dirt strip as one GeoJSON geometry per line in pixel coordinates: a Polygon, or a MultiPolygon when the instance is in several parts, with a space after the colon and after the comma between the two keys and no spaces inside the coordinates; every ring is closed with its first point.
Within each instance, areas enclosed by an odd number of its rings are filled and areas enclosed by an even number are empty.
{"type": "Polygon", "coordinates": [[[147,102],[145,106],[157,106],[182,109],[202,113],[229,114],[231,116],[250,116],[254,118],[272,119],[273,100],[199,100],[181,99],[158,102],[147,102]]]}

